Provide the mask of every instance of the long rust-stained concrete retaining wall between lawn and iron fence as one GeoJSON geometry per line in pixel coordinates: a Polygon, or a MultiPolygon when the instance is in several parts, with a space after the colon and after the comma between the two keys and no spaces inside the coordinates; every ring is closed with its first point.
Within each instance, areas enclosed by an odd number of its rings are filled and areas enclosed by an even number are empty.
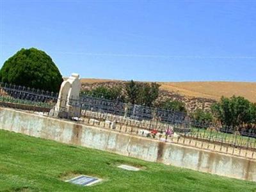
{"type": "Polygon", "coordinates": [[[0,129],[256,182],[256,161],[0,108],[0,129]]]}

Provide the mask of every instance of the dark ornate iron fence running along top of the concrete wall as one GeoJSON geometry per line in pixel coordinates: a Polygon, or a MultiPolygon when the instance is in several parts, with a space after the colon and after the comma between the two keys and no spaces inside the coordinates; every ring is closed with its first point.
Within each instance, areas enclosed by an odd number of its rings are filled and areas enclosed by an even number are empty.
{"type": "Polygon", "coordinates": [[[119,100],[88,96],[67,99],[58,97],[57,93],[5,83],[0,83],[0,106],[256,159],[255,132],[238,132],[232,127],[200,124],[179,111],[147,108],[119,100]],[[64,103],[62,106],[65,107],[56,108],[58,102],[64,103]]]}

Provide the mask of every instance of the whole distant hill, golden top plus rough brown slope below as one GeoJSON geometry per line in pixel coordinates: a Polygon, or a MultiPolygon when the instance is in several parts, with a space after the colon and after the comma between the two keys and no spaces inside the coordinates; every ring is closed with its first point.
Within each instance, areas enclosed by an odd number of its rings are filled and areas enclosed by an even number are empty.
{"type": "MultiPolygon", "coordinates": [[[[111,79],[81,79],[82,88],[89,90],[101,85],[112,87],[125,82],[111,79]]],[[[256,102],[256,83],[223,81],[157,83],[161,84],[159,100],[167,97],[172,100],[181,100],[186,103],[188,111],[195,111],[196,108],[207,110],[222,95],[242,96],[251,102],[256,102]]]]}

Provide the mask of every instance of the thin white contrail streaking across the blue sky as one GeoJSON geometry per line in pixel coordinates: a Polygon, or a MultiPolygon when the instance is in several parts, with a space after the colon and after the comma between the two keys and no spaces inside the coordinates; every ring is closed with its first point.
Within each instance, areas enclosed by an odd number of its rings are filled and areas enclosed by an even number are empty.
{"type": "Polygon", "coordinates": [[[117,56],[117,57],[136,57],[136,58],[188,58],[188,59],[250,59],[255,60],[256,56],[172,56],[161,54],[116,54],[98,52],[54,52],[56,54],[74,54],[86,56],[117,56]]]}

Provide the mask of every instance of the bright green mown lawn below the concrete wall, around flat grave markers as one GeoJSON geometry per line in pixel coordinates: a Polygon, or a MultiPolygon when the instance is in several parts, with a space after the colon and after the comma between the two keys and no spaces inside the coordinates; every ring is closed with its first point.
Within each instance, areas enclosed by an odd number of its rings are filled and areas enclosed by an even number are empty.
{"type": "Polygon", "coordinates": [[[228,179],[100,150],[0,130],[0,191],[256,191],[255,182],[228,179]],[[140,166],[140,172],[117,168],[140,166]],[[72,175],[103,179],[83,187],[72,175]]]}

